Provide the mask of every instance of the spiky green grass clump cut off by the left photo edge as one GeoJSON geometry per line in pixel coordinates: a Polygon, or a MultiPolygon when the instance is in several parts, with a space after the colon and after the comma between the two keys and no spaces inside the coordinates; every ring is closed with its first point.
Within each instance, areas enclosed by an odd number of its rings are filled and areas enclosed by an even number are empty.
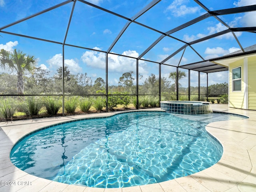
{"type": "Polygon", "coordinates": [[[2,118],[5,118],[6,120],[12,119],[15,111],[16,111],[17,105],[14,102],[14,99],[8,97],[8,98],[0,98],[0,116],[2,118]]]}

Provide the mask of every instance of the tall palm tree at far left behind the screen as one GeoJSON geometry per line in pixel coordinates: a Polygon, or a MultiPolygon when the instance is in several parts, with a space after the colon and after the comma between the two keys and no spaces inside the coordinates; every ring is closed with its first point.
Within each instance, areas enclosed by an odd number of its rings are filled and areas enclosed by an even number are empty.
{"type": "Polygon", "coordinates": [[[16,70],[18,82],[17,93],[24,94],[23,74],[25,72],[32,72],[36,66],[35,56],[26,55],[20,50],[14,49],[13,52],[1,49],[0,51],[0,66],[7,70],[16,70]]]}

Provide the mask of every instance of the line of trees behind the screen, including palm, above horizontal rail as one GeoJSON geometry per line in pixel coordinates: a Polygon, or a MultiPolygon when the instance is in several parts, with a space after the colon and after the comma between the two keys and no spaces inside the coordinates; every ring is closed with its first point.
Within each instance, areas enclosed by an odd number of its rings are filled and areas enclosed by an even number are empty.
{"type": "MultiPolygon", "coordinates": [[[[0,67],[11,73],[0,74],[0,94],[62,94],[62,67],[51,76],[50,71],[36,67],[35,56],[30,56],[20,50],[0,51],[0,67]]],[[[161,78],[161,93],[176,94],[176,72],[170,72],[168,78],[161,78]]],[[[186,77],[185,72],[178,71],[178,80],[186,77]]],[[[142,76],[140,76],[140,80],[142,76]]],[[[179,94],[188,94],[188,87],[179,86],[179,94]]],[[[150,74],[138,86],[139,94],[159,94],[159,78],[150,74]]],[[[206,94],[206,87],[200,87],[200,94],[206,94]]],[[[106,90],[106,82],[98,77],[92,80],[87,73],[71,74],[68,66],[64,67],[65,94],[90,95],[102,94],[106,90]]],[[[136,94],[134,72],[124,72],[118,85],[108,86],[109,94],[114,92],[136,94]]],[[[228,93],[228,84],[214,84],[208,87],[209,94],[220,95],[228,93]]],[[[190,94],[198,94],[198,87],[190,87],[190,94]]]]}

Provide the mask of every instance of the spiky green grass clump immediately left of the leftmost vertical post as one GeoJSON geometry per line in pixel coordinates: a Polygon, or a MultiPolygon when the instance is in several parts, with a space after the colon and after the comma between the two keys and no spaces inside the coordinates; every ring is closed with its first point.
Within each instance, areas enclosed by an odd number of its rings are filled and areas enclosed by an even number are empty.
{"type": "Polygon", "coordinates": [[[43,103],[46,108],[46,112],[49,115],[56,115],[62,107],[62,100],[60,98],[54,98],[52,96],[48,96],[47,98],[45,98],[43,103]]]}

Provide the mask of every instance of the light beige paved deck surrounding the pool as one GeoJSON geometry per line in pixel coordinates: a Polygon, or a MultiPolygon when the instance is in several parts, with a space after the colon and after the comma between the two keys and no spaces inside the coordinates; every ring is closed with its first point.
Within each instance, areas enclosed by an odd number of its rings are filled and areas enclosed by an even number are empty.
{"type": "Polygon", "coordinates": [[[214,111],[250,117],[207,125],[208,132],[224,148],[217,164],[190,176],[127,188],[90,188],[54,182],[27,174],[10,162],[12,146],[33,130],[77,118],[109,116],[114,112],[0,122],[0,192],[256,192],[256,111],[223,104],[211,106],[214,111]],[[2,181],[15,181],[15,185],[3,186],[2,181]]]}

